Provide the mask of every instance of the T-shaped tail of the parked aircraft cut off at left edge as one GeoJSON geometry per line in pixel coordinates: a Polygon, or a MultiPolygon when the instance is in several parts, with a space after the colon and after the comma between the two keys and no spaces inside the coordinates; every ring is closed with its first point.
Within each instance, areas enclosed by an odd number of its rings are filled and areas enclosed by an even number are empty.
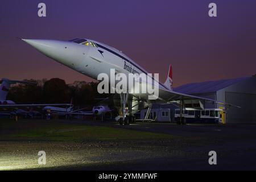
{"type": "Polygon", "coordinates": [[[10,85],[16,84],[16,83],[22,83],[22,84],[36,84],[35,82],[30,81],[18,81],[18,80],[9,80],[7,78],[2,78],[2,84],[0,86],[0,101],[5,101],[6,96],[9,92],[10,85]]]}

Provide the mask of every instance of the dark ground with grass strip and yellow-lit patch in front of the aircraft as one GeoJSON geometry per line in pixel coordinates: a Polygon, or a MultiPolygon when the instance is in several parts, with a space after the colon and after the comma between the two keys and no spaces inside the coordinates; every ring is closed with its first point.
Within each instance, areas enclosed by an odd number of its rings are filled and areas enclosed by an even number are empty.
{"type": "Polygon", "coordinates": [[[0,119],[0,170],[42,169],[255,170],[256,125],[0,119]]]}

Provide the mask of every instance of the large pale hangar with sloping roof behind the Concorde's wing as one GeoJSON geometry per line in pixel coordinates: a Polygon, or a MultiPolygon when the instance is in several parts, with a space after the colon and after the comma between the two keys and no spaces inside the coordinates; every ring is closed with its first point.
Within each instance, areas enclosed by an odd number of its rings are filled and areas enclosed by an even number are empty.
{"type": "MultiPolygon", "coordinates": [[[[185,84],[174,91],[241,106],[226,108],[226,123],[256,123],[256,76],[185,84]]],[[[221,106],[205,104],[205,108],[221,106]]]]}

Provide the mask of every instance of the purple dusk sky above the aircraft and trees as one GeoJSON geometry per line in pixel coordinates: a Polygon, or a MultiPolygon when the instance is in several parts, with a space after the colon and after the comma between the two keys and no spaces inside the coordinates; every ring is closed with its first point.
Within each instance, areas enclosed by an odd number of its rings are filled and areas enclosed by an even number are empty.
{"type": "Polygon", "coordinates": [[[2,0],[0,77],[90,81],[16,37],[94,39],[115,47],[174,86],[256,73],[256,1],[2,0]],[[39,18],[38,3],[47,6],[39,18]],[[217,18],[208,16],[210,2],[217,18]]]}

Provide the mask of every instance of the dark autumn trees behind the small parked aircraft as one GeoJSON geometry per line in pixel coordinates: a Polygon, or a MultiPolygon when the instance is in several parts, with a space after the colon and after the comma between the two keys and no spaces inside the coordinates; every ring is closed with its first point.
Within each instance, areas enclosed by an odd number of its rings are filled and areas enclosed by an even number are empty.
{"type": "Polygon", "coordinates": [[[75,81],[66,84],[60,78],[50,80],[24,80],[36,84],[11,85],[7,100],[17,104],[66,104],[71,99],[75,105],[93,105],[96,98],[108,97],[108,94],[97,92],[97,82],[75,81]]]}

